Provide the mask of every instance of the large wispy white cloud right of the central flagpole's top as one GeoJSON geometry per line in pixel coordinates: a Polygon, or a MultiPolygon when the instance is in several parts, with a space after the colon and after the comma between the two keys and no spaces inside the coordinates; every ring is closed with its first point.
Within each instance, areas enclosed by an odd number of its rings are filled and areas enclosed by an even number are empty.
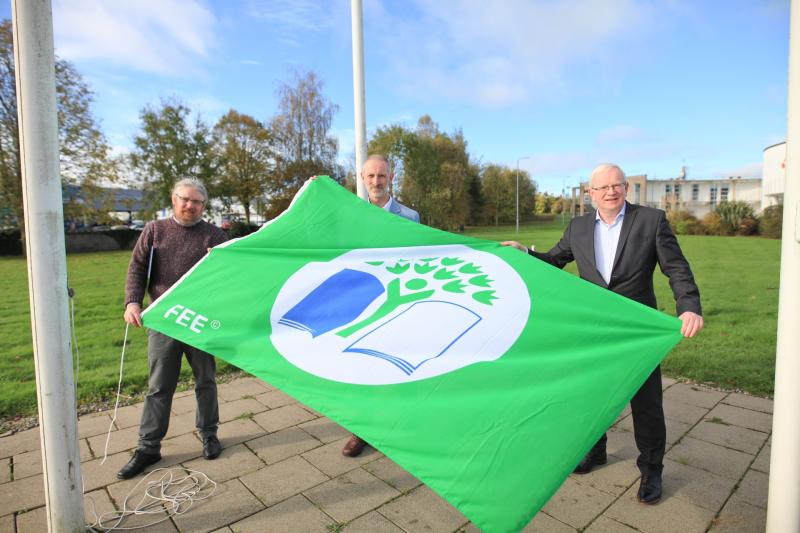
{"type": "Polygon", "coordinates": [[[653,19],[652,8],[634,0],[417,0],[402,13],[367,8],[367,31],[380,28],[369,43],[406,92],[488,107],[561,91],[571,69],[624,62],[620,49],[638,42],[653,19]]]}

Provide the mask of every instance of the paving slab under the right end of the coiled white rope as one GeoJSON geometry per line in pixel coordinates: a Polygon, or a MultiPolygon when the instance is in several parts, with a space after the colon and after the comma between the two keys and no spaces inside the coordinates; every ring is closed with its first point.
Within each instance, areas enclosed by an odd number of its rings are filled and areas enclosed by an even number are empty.
{"type": "Polygon", "coordinates": [[[191,509],[172,518],[178,529],[192,533],[213,531],[264,509],[238,479],[217,485],[214,494],[195,501],[191,509]]]}

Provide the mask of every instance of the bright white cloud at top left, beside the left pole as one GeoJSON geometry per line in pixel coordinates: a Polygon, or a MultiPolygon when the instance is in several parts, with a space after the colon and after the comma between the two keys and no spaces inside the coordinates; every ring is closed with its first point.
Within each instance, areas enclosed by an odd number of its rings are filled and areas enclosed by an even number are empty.
{"type": "Polygon", "coordinates": [[[191,71],[215,45],[216,20],[198,0],[56,0],[56,51],[161,75],[191,71]]]}

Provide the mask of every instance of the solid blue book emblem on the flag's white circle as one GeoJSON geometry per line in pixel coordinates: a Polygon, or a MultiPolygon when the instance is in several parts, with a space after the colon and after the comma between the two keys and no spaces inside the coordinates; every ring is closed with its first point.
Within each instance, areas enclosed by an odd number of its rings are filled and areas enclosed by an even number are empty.
{"type": "Polygon", "coordinates": [[[323,281],[278,322],[318,337],[358,318],[383,292],[383,284],[372,274],[345,268],[323,281]]]}

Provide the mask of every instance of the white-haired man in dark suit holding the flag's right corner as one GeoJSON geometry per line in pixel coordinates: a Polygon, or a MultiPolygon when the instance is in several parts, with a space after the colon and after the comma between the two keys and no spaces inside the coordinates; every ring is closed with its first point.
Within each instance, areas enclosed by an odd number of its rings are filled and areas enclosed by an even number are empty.
{"type": "MultiPolygon", "coordinates": [[[[581,278],[650,307],[656,307],[653,272],[658,265],[669,278],[678,318],[683,323],[681,333],[693,337],[703,328],[703,317],[700,292],[689,263],[664,211],[627,203],[627,192],[622,169],[612,164],[600,165],[589,180],[589,196],[596,211],[573,219],[550,251],[535,252],[515,241],[503,244],[558,268],[576,261],[581,278]]],[[[661,498],[666,447],[660,367],[656,367],[631,400],[631,412],[639,449],[636,464],[642,473],[639,501],[656,503],[661,498]]],[[[575,468],[575,473],[589,473],[606,460],[603,435],[575,468]]]]}

